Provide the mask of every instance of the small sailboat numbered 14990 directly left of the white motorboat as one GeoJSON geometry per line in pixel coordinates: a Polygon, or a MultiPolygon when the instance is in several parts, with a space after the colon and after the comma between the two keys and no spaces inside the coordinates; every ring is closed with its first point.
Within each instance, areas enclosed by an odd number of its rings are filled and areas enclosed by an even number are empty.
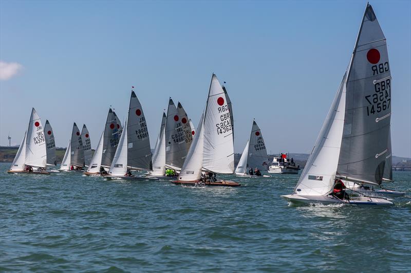
{"type": "MultiPolygon", "coordinates": [[[[247,144],[242,151],[240,161],[235,169],[235,174],[238,176],[254,176],[248,174],[247,170],[259,169],[267,170],[268,166],[268,156],[266,144],[264,143],[263,134],[261,133],[260,128],[258,127],[255,120],[253,120],[253,125],[251,128],[250,138],[247,140],[247,144]]],[[[269,175],[263,175],[263,177],[270,177],[269,175]]]]}

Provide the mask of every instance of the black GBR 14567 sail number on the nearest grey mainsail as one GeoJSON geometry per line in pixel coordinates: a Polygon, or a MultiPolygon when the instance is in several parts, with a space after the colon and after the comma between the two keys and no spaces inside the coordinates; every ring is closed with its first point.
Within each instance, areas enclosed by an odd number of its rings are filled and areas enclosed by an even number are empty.
{"type": "Polygon", "coordinates": [[[375,93],[365,96],[367,100],[367,116],[389,109],[391,104],[391,79],[375,83],[375,93]]]}

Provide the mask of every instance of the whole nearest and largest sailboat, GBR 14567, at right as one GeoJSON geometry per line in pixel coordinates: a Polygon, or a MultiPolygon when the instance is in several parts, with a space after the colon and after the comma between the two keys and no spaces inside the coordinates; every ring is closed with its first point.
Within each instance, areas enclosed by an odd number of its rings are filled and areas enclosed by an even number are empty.
{"type": "Polygon", "coordinates": [[[377,197],[346,198],[344,182],[380,185],[390,135],[391,75],[384,34],[367,4],[350,64],[334,97],[293,203],[393,205],[377,197]]]}

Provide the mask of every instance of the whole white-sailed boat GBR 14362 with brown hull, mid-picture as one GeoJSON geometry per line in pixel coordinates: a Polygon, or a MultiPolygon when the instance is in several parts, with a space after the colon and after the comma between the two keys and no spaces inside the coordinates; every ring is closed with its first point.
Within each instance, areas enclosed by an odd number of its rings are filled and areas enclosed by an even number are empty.
{"type": "Polygon", "coordinates": [[[212,75],[206,109],[185,157],[184,164],[174,184],[213,186],[239,186],[229,180],[217,180],[215,174],[234,173],[234,144],[227,96],[217,76],[212,75]],[[202,179],[202,170],[212,175],[202,179]]]}

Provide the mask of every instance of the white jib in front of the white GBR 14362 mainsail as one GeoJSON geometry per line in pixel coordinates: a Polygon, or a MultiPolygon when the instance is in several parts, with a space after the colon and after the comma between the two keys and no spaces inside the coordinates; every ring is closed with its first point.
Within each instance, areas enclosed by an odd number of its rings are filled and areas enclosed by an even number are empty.
{"type": "Polygon", "coordinates": [[[200,122],[193,143],[185,157],[181,172],[178,175],[180,181],[198,181],[201,178],[204,148],[204,114],[201,115],[200,122]]]}

